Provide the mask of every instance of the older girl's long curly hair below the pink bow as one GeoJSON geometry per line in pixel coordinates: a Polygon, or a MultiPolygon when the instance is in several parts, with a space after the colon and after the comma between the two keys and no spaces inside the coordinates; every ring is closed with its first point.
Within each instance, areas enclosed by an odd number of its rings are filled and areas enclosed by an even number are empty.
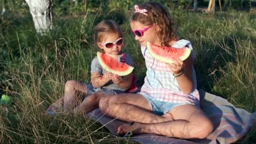
{"type": "Polygon", "coordinates": [[[145,25],[156,24],[160,28],[156,35],[162,46],[169,46],[172,40],[178,40],[176,26],[163,5],[156,2],[147,2],[139,5],[139,8],[146,9],[148,11],[147,16],[143,13],[134,13],[134,10],[130,21],[139,21],[145,25]]]}

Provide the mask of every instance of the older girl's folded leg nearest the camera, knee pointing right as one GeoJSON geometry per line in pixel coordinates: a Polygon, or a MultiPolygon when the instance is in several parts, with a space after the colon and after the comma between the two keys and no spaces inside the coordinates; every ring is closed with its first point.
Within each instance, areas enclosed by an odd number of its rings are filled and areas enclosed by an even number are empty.
{"type": "Polygon", "coordinates": [[[184,139],[204,139],[213,131],[213,123],[203,111],[192,104],[181,105],[171,111],[174,121],[163,123],[121,125],[118,133],[152,133],[184,139]]]}

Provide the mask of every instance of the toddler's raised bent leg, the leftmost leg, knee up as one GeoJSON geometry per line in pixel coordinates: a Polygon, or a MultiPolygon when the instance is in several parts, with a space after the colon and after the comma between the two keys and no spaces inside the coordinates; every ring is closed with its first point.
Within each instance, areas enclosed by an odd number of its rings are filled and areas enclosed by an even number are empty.
{"type": "Polygon", "coordinates": [[[87,88],[83,83],[74,80],[67,81],[64,87],[64,111],[69,112],[80,104],[86,93],[87,88]]]}

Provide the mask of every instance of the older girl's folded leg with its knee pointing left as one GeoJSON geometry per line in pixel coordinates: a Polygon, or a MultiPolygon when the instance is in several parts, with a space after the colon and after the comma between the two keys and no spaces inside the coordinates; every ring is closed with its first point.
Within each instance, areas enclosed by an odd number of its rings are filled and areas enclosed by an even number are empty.
{"type": "Polygon", "coordinates": [[[101,112],[128,122],[160,123],[173,120],[165,115],[158,116],[152,113],[152,108],[140,94],[123,93],[104,97],[99,102],[101,112]]]}

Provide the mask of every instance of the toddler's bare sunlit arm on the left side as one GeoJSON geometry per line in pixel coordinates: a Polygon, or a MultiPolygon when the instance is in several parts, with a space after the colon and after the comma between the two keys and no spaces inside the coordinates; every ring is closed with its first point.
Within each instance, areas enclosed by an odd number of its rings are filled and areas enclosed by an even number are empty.
{"type": "Polygon", "coordinates": [[[91,84],[94,88],[101,88],[103,85],[111,80],[111,73],[106,72],[102,76],[99,72],[92,72],[91,73],[91,84]]]}

